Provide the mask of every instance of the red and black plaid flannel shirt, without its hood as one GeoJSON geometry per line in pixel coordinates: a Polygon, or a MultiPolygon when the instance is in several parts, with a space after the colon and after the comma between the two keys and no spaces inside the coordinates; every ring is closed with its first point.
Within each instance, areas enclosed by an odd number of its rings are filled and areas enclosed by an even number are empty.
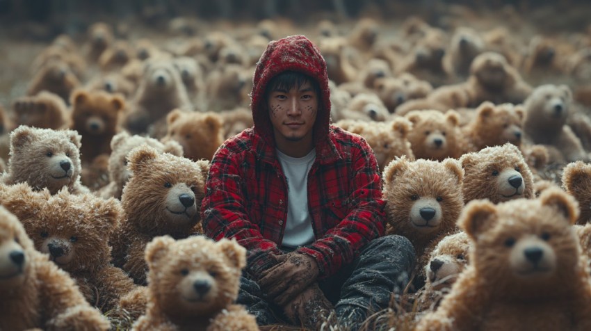
{"type": "MultiPolygon", "coordinates": [[[[316,241],[298,248],[314,257],[321,278],[350,263],[359,249],[384,234],[384,200],[375,156],[366,141],[330,127],[316,145],[308,175],[308,207],[316,241]]],[[[222,145],[211,161],[202,222],[207,236],[235,238],[248,250],[255,278],[281,255],[287,184],[275,147],[253,129],[222,145]]]]}

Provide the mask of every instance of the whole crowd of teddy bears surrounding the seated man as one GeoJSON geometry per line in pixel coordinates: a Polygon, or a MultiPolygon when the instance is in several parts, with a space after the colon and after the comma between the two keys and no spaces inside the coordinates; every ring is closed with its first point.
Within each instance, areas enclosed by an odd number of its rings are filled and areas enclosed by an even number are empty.
{"type": "Polygon", "coordinates": [[[414,244],[416,329],[591,330],[591,27],[519,45],[416,17],[394,39],[373,19],[175,24],[161,42],[105,23],[60,35],[0,107],[0,330],[122,315],[133,330],[258,330],[234,305],[244,248],[194,235],[209,160],[252,125],[254,65],[294,33],[325,57],[333,124],[375,153],[387,232],[414,244]],[[544,72],[574,83],[526,81],[544,72]]]}

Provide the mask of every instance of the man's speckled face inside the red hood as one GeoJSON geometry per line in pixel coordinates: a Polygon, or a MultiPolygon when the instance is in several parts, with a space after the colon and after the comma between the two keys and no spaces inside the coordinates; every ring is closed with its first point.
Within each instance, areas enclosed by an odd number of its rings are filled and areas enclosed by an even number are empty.
{"type": "Polygon", "coordinates": [[[309,82],[289,91],[271,91],[268,109],[278,147],[300,140],[311,143],[318,113],[318,95],[309,82]]]}

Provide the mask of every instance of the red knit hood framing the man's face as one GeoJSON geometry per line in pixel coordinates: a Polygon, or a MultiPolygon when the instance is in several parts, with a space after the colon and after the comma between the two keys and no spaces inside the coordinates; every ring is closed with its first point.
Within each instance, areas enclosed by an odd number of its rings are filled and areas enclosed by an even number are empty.
{"type": "Polygon", "coordinates": [[[254,120],[254,131],[268,143],[275,145],[273,125],[270,122],[265,102],[266,86],[277,74],[286,71],[302,72],[318,81],[320,87],[318,115],[314,123],[314,143],[327,140],[330,123],[330,90],[326,63],[308,38],[303,35],[292,35],[280,40],[273,40],[257,62],[250,93],[250,109],[254,120]]]}

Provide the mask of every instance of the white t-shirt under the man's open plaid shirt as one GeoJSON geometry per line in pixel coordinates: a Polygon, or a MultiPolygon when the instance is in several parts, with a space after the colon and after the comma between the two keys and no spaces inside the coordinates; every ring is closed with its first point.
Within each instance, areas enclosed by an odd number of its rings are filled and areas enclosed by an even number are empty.
{"type": "Polygon", "coordinates": [[[304,157],[287,156],[277,150],[277,158],[287,178],[287,222],[282,246],[297,248],[314,241],[314,229],[308,210],[308,172],[316,159],[316,150],[304,157]]]}

